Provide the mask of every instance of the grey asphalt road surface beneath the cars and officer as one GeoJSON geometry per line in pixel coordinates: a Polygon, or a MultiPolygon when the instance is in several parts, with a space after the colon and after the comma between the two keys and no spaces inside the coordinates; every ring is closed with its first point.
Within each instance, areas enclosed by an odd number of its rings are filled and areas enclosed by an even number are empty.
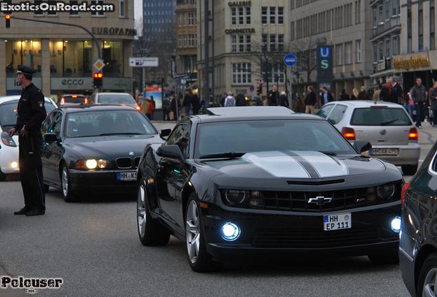
{"type": "MultiPolygon", "coordinates": [[[[154,124],[160,131],[175,122],[154,124]]],[[[422,161],[437,128],[423,123],[418,133],[422,161]]],[[[19,178],[0,188],[0,276],[63,279],[34,296],[410,296],[399,265],[373,265],[366,256],[256,259],[195,273],[175,237],[164,247],[139,242],[135,195],[65,203],[50,188],[45,215],[25,217],[13,214],[23,207],[19,178]]],[[[0,296],[29,295],[0,287],[0,296]]]]}

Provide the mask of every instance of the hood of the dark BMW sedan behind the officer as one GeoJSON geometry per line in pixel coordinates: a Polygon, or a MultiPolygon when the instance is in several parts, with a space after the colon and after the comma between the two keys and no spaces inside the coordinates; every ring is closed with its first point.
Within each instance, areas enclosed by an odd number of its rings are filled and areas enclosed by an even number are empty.
{"type": "Polygon", "coordinates": [[[67,138],[64,144],[85,158],[111,159],[111,157],[128,156],[130,152],[138,157],[141,156],[147,144],[162,142],[164,141],[159,135],[109,135],[67,138]]]}

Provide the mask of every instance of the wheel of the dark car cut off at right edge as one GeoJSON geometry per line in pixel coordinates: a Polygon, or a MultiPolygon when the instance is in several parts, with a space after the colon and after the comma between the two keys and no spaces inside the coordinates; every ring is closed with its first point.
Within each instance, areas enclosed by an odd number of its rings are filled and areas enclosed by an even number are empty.
{"type": "Polygon", "coordinates": [[[421,273],[419,274],[417,283],[416,296],[423,296],[423,291],[429,292],[425,296],[436,296],[437,287],[434,287],[437,277],[437,252],[429,254],[422,265],[421,273]]]}

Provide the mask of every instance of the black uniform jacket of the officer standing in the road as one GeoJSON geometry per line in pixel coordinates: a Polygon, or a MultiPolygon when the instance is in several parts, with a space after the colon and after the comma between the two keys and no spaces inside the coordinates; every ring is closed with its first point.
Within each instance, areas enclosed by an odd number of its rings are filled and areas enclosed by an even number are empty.
{"type": "Polygon", "coordinates": [[[41,130],[41,123],[47,115],[44,107],[44,95],[33,84],[30,83],[21,92],[21,97],[16,115],[16,124],[14,128],[20,131],[25,126],[26,131],[30,131],[31,135],[38,133],[41,130]]]}

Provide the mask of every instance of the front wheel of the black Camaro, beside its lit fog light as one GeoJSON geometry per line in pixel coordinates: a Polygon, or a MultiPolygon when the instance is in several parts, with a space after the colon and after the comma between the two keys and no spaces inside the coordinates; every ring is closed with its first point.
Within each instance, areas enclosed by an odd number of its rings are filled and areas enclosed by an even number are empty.
{"type": "Polygon", "coordinates": [[[219,271],[223,262],[212,261],[212,257],[206,251],[205,235],[200,216],[200,210],[196,195],[191,193],[186,208],[186,247],[188,263],[194,272],[219,271]],[[194,241],[193,241],[194,240],[194,241]]]}

